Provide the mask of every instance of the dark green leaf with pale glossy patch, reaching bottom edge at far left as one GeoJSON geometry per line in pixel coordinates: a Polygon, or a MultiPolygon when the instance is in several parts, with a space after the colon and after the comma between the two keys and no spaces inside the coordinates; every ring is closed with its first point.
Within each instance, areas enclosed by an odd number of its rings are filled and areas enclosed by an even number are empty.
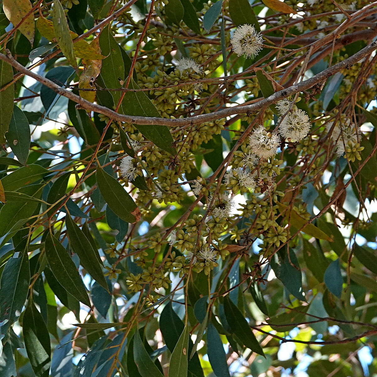
{"type": "Polygon", "coordinates": [[[48,377],[51,364],[50,337],[44,320],[32,300],[29,300],[23,316],[23,336],[35,375],[48,377]]]}

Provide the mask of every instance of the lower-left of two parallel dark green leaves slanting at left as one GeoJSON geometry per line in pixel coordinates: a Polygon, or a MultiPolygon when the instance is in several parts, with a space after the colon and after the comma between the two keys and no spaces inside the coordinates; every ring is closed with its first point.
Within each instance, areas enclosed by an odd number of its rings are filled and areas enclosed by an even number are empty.
{"type": "Polygon", "coordinates": [[[72,296],[90,307],[90,301],[83,280],[76,270],[67,250],[55,236],[49,233],[46,237],[45,248],[48,264],[60,285],[72,296]]]}

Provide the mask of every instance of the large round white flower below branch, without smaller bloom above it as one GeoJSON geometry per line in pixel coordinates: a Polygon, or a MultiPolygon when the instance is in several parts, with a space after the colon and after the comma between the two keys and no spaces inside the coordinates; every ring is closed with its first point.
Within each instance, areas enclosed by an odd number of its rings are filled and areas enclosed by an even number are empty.
{"type": "Polygon", "coordinates": [[[279,125],[279,133],[291,141],[300,141],[310,131],[311,123],[308,114],[296,109],[288,113],[279,125]]]}

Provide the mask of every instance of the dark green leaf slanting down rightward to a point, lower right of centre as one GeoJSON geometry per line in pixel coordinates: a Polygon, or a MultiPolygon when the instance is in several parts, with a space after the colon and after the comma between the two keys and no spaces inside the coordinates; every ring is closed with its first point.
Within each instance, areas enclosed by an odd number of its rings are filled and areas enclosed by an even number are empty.
{"type": "Polygon", "coordinates": [[[251,351],[264,356],[263,349],[259,345],[253,331],[251,331],[247,320],[228,296],[224,298],[224,311],[227,322],[238,339],[241,340],[247,348],[250,348],[251,351]]]}

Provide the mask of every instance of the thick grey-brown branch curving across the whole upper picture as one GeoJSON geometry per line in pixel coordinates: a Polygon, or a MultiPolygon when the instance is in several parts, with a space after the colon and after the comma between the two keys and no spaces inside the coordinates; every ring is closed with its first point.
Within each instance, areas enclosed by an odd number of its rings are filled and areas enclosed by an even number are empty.
{"type": "Polygon", "coordinates": [[[351,57],[340,61],[337,64],[334,64],[331,67],[326,68],[322,72],[313,77],[309,78],[308,80],[301,81],[298,84],[292,85],[286,89],[279,90],[278,92],[273,93],[270,97],[265,98],[259,102],[246,105],[246,106],[234,106],[228,107],[227,109],[222,109],[213,113],[207,113],[202,115],[192,116],[191,118],[183,118],[183,119],[164,119],[164,118],[156,118],[156,117],[147,117],[147,116],[130,116],[130,115],[123,115],[116,113],[113,110],[110,110],[107,107],[100,106],[98,104],[91,103],[84,98],[79,97],[78,95],[66,90],[51,80],[48,80],[41,75],[32,72],[31,70],[27,69],[26,67],[22,66],[18,61],[16,61],[11,54],[4,55],[0,54],[0,60],[5,61],[8,64],[11,64],[15,69],[17,69],[22,74],[28,75],[29,77],[34,78],[35,80],[39,81],[41,84],[49,87],[50,89],[54,90],[59,95],[69,98],[70,100],[78,103],[83,109],[101,113],[106,115],[109,118],[112,118],[116,121],[125,122],[125,123],[134,123],[134,124],[143,124],[143,125],[166,125],[166,126],[187,126],[193,124],[204,123],[208,121],[213,121],[220,118],[225,118],[226,116],[236,115],[239,113],[247,113],[252,114],[261,109],[265,106],[270,106],[271,104],[276,103],[277,101],[282,100],[283,98],[289,97],[293,94],[303,92],[304,90],[308,90],[311,87],[315,86],[318,83],[322,83],[327,78],[331,77],[332,75],[336,74],[342,69],[348,69],[353,64],[360,61],[362,58],[368,56],[377,49],[377,42],[372,42],[356,54],[352,55],[351,57]]]}

